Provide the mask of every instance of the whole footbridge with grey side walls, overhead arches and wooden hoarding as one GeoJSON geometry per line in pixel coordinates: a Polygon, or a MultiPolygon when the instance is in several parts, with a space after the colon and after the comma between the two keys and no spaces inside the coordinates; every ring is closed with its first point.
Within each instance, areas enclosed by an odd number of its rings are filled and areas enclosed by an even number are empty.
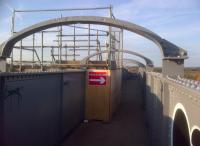
{"type": "Polygon", "coordinates": [[[156,33],[113,17],[61,17],[15,32],[0,46],[0,144],[199,146],[200,82],[183,77],[187,58],[156,33]],[[158,46],[161,73],[123,49],[123,30],[158,46]]]}

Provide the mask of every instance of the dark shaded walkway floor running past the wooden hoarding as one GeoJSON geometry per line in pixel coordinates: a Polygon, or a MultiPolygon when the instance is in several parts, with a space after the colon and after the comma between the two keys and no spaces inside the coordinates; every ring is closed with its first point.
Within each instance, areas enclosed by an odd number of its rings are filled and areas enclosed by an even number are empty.
{"type": "Polygon", "coordinates": [[[141,90],[136,77],[123,82],[122,103],[110,123],[82,123],[61,146],[147,146],[141,90]]]}

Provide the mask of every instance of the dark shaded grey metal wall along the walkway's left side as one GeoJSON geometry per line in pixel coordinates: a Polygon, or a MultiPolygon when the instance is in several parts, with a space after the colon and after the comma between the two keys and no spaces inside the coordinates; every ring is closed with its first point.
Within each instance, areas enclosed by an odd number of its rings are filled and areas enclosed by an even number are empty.
{"type": "Polygon", "coordinates": [[[53,146],[83,120],[84,72],[5,75],[0,81],[1,146],[53,146]]]}

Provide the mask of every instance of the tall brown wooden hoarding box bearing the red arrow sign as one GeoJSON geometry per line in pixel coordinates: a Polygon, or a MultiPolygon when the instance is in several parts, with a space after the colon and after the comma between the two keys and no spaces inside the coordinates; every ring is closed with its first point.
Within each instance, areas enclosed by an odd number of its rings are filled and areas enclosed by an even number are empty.
{"type": "Polygon", "coordinates": [[[109,122],[120,103],[121,70],[89,69],[86,74],[85,119],[109,122]]]}

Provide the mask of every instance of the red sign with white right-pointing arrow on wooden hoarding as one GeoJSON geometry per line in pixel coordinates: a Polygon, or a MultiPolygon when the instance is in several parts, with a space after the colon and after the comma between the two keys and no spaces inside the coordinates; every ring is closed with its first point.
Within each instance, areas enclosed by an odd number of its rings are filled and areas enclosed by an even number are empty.
{"type": "Polygon", "coordinates": [[[89,85],[106,85],[107,72],[92,71],[88,72],[89,85]]]}

